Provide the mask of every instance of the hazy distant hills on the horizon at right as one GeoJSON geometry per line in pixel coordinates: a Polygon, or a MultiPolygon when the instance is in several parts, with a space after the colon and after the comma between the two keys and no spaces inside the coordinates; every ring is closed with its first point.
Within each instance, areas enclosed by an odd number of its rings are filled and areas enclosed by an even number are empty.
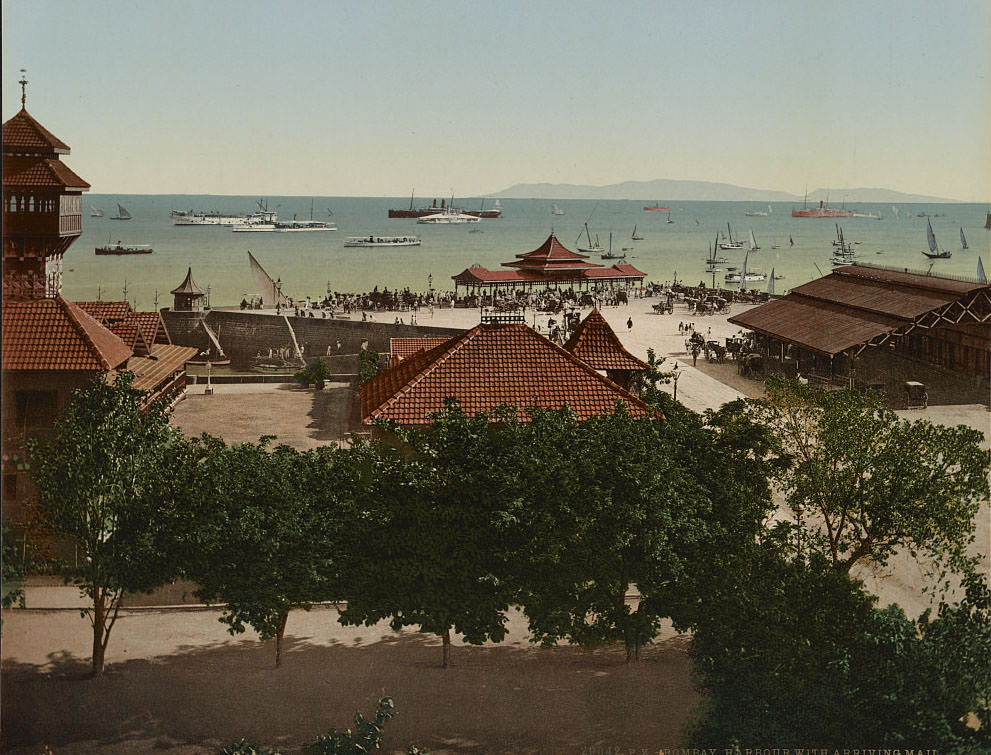
{"type": "MultiPolygon", "coordinates": [[[[516,184],[508,189],[486,194],[501,199],[636,199],[641,201],[682,200],[703,202],[801,202],[804,197],[785,191],[748,189],[733,184],[709,181],[675,181],[658,178],[654,181],[624,181],[609,186],[580,186],[576,184],[516,184]]],[[[808,201],[818,203],[828,199],[832,205],[844,202],[956,202],[944,197],[904,194],[891,189],[816,189],[809,192],[808,201]]]]}

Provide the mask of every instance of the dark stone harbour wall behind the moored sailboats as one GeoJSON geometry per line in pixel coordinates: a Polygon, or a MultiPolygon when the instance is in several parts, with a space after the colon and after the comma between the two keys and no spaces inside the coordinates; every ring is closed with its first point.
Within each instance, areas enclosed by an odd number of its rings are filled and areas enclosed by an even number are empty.
{"type": "Polygon", "coordinates": [[[458,328],[434,328],[428,325],[324,319],[320,314],[314,312],[314,317],[290,315],[286,318],[274,313],[236,310],[162,310],[162,317],[173,343],[206,349],[211,342],[200,322],[202,319],[217,336],[224,353],[236,367],[250,365],[256,355],[267,354],[270,349],[278,350],[289,346],[291,350],[292,335],[286,325],[287,319],[307,358],[338,353],[338,340],[341,342],[341,354],[358,353],[362,342],[366,340],[372,351],[388,353],[391,338],[447,338],[464,332],[458,328]]]}

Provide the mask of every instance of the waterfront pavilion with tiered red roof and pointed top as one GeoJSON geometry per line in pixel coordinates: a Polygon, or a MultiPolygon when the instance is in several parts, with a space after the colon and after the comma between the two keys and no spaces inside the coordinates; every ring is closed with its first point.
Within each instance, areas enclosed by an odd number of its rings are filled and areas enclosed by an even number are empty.
{"type": "Polygon", "coordinates": [[[587,254],[579,254],[567,249],[557,236],[551,233],[547,240],[532,252],[517,254],[512,262],[503,262],[503,267],[512,270],[486,270],[484,267],[469,267],[453,277],[454,289],[464,286],[469,292],[478,290],[493,291],[499,288],[528,288],[535,286],[548,288],[596,288],[598,286],[641,285],[647,274],[633,265],[618,264],[606,267],[594,262],[586,262],[587,254]]]}

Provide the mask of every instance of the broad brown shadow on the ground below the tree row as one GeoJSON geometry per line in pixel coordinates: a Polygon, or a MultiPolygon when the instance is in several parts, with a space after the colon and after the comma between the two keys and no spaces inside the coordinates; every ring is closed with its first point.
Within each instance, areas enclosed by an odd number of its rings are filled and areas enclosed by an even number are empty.
{"type": "Polygon", "coordinates": [[[644,649],[638,664],[621,648],[456,646],[446,670],[437,639],[419,634],[287,647],[280,669],[271,642],[243,640],[114,663],[97,680],[84,678],[87,659],[65,654],[5,662],[3,749],[216,752],[245,737],[296,752],[391,695],[385,752],[657,752],[677,746],[698,700],[682,638],[644,649]]]}

